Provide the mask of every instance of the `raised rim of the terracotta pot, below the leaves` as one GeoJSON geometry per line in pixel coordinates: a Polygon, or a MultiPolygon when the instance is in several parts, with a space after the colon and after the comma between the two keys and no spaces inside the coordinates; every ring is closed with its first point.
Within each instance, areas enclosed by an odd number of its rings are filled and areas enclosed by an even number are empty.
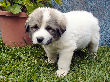
{"type": "Polygon", "coordinates": [[[0,11],[0,16],[14,16],[14,17],[28,17],[25,12],[20,12],[18,14],[13,14],[8,11],[0,11]]]}

